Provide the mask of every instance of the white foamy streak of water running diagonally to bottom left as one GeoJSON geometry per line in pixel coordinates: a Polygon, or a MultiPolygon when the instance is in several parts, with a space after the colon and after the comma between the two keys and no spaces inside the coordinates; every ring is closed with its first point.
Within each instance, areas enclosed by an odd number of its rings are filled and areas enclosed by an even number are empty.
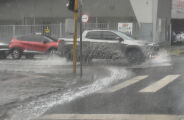
{"type": "Polygon", "coordinates": [[[31,120],[44,114],[55,105],[65,104],[77,98],[93,94],[110,84],[131,76],[131,72],[123,68],[107,67],[110,76],[95,80],[92,84],[82,86],[77,89],[70,89],[66,93],[57,93],[39,98],[36,101],[25,103],[18,108],[8,112],[9,118],[6,120],[31,120]]]}

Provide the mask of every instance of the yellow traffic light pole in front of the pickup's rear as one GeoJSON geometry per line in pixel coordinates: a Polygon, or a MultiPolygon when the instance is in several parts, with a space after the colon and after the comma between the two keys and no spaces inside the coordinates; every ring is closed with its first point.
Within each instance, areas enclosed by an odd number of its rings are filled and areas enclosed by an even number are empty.
{"type": "Polygon", "coordinates": [[[76,64],[77,64],[77,23],[78,23],[78,0],[75,0],[75,12],[74,12],[74,19],[75,19],[75,34],[73,40],[73,74],[76,74],[76,64]]]}

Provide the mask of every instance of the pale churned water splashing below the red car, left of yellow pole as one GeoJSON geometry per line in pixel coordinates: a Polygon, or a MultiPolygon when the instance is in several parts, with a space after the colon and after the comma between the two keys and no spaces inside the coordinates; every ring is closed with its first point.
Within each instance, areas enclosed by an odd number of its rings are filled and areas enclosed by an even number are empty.
{"type": "Polygon", "coordinates": [[[34,73],[59,73],[60,71],[71,71],[69,68],[72,62],[65,58],[53,56],[49,58],[33,60],[11,60],[1,63],[1,70],[14,72],[34,72],[34,73]],[[8,66],[8,67],[7,67],[8,66]],[[64,70],[67,69],[67,70],[64,70]]]}

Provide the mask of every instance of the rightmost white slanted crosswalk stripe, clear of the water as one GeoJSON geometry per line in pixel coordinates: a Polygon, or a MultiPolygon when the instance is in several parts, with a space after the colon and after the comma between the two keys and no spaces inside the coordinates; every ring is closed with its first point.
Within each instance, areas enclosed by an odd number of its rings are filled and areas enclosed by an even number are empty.
{"type": "Polygon", "coordinates": [[[180,75],[168,75],[168,76],[162,78],[161,80],[157,81],[156,83],[153,83],[152,85],[140,90],[139,92],[141,92],[141,93],[145,93],[145,92],[155,93],[158,90],[165,87],[166,85],[168,85],[169,83],[176,80],[179,76],[180,75]]]}

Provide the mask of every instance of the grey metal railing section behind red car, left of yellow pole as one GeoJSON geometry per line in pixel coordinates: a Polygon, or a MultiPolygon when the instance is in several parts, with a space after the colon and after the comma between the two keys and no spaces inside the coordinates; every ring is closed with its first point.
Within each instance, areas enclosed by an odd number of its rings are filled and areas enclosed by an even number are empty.
{"type": "Polygon", "coordinates": [[[53,37],[61,37],[62,24],[52,25],[0,25],[0,42],[8,43],[14,36],[30,34],[48,34],[53,37]],[[46,32],[48,30],[48,32],[46,32]]]}

